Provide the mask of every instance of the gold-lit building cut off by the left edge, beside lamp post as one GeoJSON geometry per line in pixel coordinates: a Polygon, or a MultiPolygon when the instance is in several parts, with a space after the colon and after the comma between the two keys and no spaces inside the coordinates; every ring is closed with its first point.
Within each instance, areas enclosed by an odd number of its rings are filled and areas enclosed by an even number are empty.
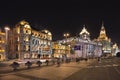
{"type": "Polygon", "coordinates": [[[5,54],[5,33],[1,31],[0,29],[0,61],[3,61],[6,59],[5,54]]]}

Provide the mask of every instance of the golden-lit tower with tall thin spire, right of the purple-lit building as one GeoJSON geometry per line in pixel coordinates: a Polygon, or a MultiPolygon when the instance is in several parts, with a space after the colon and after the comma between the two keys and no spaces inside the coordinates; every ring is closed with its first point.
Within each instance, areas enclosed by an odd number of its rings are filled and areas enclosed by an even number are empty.
{"type": "Polygon", "coordinates": [[[111,39],[107,37],[103,23],[97,41],[102,43],[103,53],[111,53],[111,39]]]}

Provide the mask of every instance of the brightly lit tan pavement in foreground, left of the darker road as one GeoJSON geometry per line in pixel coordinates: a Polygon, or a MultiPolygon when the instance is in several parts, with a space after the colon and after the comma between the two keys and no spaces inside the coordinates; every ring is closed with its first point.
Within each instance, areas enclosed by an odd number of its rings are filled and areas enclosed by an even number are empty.
{"type": "Polygon", "coordinates": [[[7,71],[10,70],[12,72],[0,74],[0,80],[63,80],[75,72],[86,68],[94,61],[95,60],[88,60],[87,62],[81,61],[80,63],[63,63],[60,67],[56,67],[57,65],[52,65],[47,67],[42,66],[39,68],[37,65],[33,65],[34,68],[32,67],[29,70],[21,70],[22,67],[20,67],[20,71],[16,72],[13,72],[12,68],[6,68],[7,71]]]}

